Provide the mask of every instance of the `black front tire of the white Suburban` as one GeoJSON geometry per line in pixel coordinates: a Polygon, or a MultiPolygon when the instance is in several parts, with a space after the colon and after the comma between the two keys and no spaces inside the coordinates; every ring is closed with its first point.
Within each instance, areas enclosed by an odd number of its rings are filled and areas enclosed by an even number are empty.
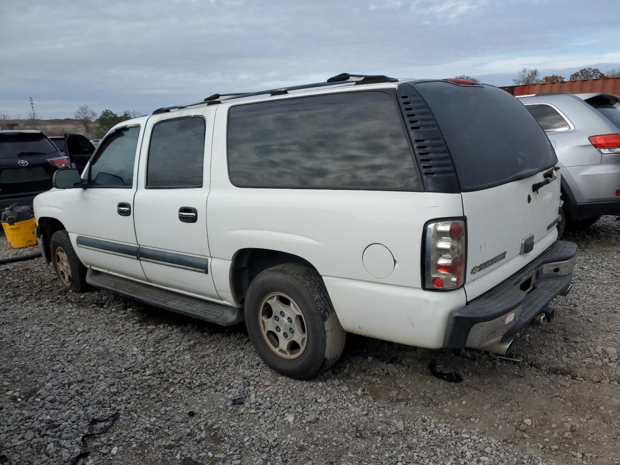
{"type": "Polygon", "coordinates": [[[86,267],[79,261],[78,255],[71,245],[69,234],[64,229],[51,235],[50,252],[51,264],[63,288],[74,292],[89,290],[89,286],[86,284],[86,267]],[[59,262],[59,259],[63,260],[61,252],[66,257],[66,263],[59,262]]]}

